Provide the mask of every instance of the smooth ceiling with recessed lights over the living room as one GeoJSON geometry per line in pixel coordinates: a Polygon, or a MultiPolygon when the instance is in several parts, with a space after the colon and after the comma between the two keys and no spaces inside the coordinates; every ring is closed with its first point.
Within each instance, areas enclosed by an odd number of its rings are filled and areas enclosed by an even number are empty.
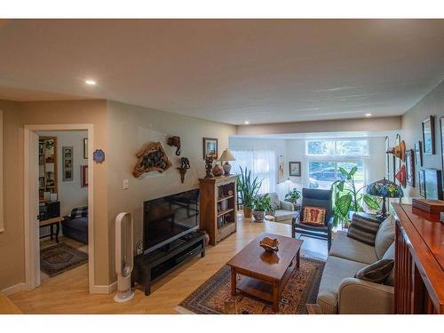
{"type": "Polygon", "coordinates": [[[0,99],[233,124],[359,118],[401,115],[440,83],[444,20],[1,20],[0,50],[0,99]]]}

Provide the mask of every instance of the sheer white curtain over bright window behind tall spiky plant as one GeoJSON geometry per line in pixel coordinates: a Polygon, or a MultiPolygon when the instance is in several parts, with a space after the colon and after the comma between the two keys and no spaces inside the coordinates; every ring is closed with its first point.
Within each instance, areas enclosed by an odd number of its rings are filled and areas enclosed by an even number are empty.
{"type": "Polygon", "coordinates": [[[276,190],[276,154],[273,149],[232,150],[236,161],[232,162],[233,172],[241,174],[241,168],[251,170],[252,178],[262,180],[259,194],[276,190]]]}

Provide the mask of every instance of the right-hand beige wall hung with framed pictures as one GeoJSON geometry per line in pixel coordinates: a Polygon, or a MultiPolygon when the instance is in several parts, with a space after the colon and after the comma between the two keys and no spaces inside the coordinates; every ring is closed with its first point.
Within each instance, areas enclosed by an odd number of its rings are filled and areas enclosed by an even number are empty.
{"type": "MultiPolygon", "coordinates": [[[[440,117],[444,115],[444,81],[437,87],[424,96],[415,107],[408,110],[402,115],[401,139],[406,142],[407,149],[414,149],[414,144],[417,141],[423,141],[422,137],[422,121],[428,116],[434,115],[435,125],[435,155],[423,155],[423,167],[442,170],[441,164],[441,141],[440,141],[440,117]]],[[[416,172],[416,186],[408,186],[405,190],[406,196],[419,196],[417,171],[416,172]]]]}

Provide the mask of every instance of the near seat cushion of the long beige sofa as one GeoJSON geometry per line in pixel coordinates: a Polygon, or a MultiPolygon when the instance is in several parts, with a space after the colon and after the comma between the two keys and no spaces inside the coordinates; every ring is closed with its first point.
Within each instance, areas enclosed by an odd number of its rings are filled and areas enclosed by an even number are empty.
{"type": "Polygon", "coordinates": [[[317,298],[317,304],[321,306],[322,313],[337,313],[339,285],[345,278],[353,277],[356,272],[365,266],[367,265],[356,261],[329,256],[322,273],[317,298]]]}

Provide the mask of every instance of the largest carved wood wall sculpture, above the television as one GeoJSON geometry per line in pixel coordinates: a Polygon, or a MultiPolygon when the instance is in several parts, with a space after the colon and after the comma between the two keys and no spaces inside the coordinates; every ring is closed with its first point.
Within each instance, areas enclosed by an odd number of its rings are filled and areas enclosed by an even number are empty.
{"type": "Polygon", "coordinates": [[[171,166],[170,160],[163,150],[160,142],[151,142],[140,149],[136,155],[138,163],[132,170],[132,175],[136,178],[145,172],[158,171],[163,172],[168,170],[171,166]]]}

